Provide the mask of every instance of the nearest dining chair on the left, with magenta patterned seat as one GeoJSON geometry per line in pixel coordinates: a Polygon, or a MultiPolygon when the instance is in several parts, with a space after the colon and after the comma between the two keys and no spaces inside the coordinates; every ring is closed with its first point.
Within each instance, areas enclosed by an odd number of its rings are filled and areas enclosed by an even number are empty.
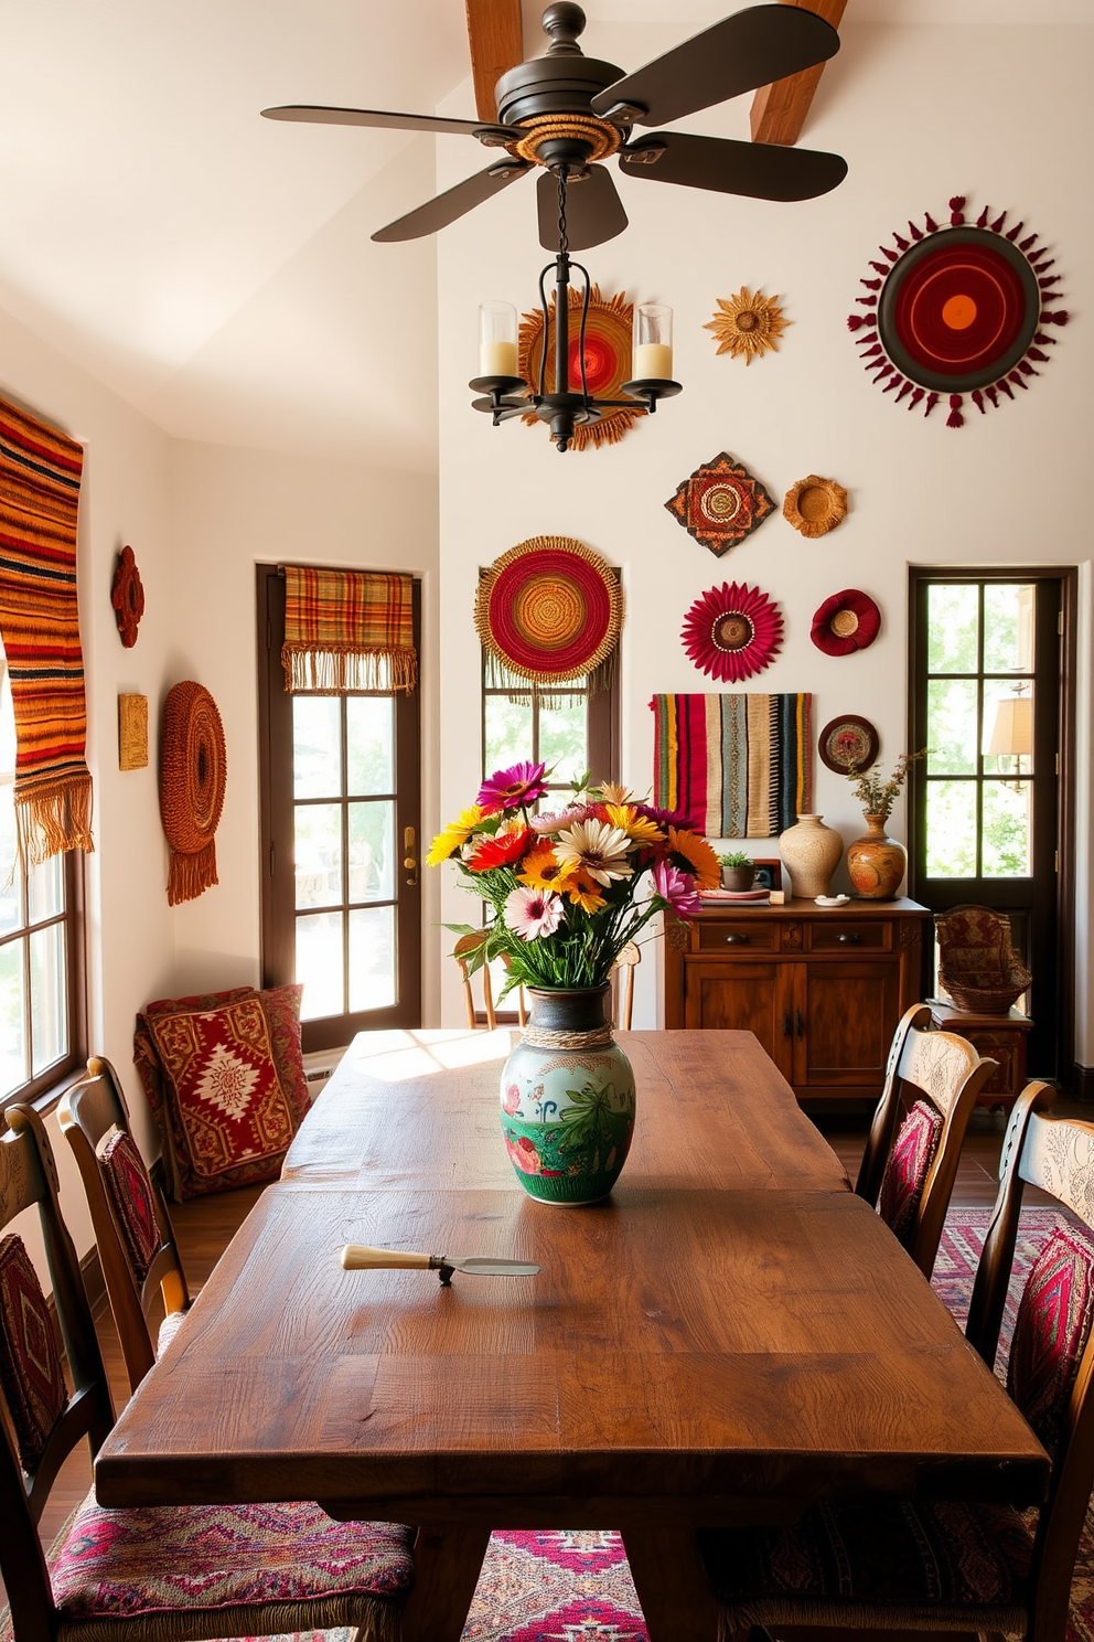
{"type": "Polygon", "coordinates": [[[62,1340],[61,1350],[38,1271],[8,1232],[0,1238],[0,1573],[18,1642],[198,1642],[341,1626],[395,1642],[413,1585],[413,1530],[333,1522],[310,1501],[107,1511],[92,1489],[43,1552],[38,1524],[57,1471],[84,1437],[95,1456],[113,1406],[46,1130],[26,1105],[8,1107],[7,1118],[0,1232],[38,1207],[62,1340]]]}

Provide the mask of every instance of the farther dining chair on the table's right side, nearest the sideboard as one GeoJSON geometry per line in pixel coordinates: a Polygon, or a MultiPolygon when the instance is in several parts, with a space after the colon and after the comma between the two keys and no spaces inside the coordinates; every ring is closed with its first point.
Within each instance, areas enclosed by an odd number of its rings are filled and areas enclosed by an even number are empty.
{"type": "Polygon", "coordinates": [[[905,1010],[855,1182],[925,1277],[938,1256],[976,1097],[997,1066],[956,1033],[928,1028],[927,1003],[905,1010]]]}

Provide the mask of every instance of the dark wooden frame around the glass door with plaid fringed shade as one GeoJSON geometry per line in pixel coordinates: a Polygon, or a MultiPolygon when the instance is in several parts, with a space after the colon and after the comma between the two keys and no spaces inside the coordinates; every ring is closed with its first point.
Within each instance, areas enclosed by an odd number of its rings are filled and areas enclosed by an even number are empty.
{"type": "MultiPolygon", "coordinates": [[[[344,568],[344,566],[343,566],[344,568]]],[[[279,667],[279,658],[272,654],[272,616],[279,608],[284,619],[285,583],[277,565],[256,566],[256,611],[258,611],[258,708],[259,708],[259,828],[261,828],[261,928],[262,928],[262,985],[284,985],[292,979],[295,969],[295,895],[292,870],[277,872],[274,841],[277,837],[292,839],[292,783],[274,780],[274,759],[279,745],[289,749],[292,760],[292,698],[272,688],[272,680],[279,667]],[[289,726],[289,729],[285,729],[289,726]]],[[[422,654],[422,589],[413,585],[413,639],[415,649],[422,654]]],[[[303,1023],[303,1048],[335,1049],[348,1043],[348,1036],[362,1028],[420,1026],[422,1013],[422,805],[420,805],[420,714],[417,711],[399,711],[403,698],[397,698],[395,713],[395,882],[399,883],[399,901],[410,900],[407,915],[395,913],[395,939],[399,952],[399,1002],[387,1010],[369,1010],[362,1015],[338,1015],[303,1023]],[[405,777],[405,780],[403,780],[405,777]],[[408,855],[407,828],[413,828],[413,882],[403,865],[408,855]],[[407,892],[410,895],[407,897],[407,892]],[[417,1010],[410,1010],[413,1018],[407,1018],[407,1000],[417,998],[417,1010]]],[[[344,749],[343,749],[344,757],[344,749]]],[[[292,867],[292,862],[289,862],[292,867]]]]}

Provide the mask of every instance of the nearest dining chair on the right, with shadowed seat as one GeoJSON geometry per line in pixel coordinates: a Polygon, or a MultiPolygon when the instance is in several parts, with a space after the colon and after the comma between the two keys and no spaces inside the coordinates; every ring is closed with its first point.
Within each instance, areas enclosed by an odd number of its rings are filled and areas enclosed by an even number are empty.
{"type": "Polygon", "coordinates": [[[1030,1084],[1015,1102],[966,1325],[994,1366],[1022,1194],[1048,1192],[1078,1223],[1058,1222],[1046,1236],[1007,1365],[1007,1391],[1051,1456],[1035,1529],[1009,1506],[879,1496],[822,1501],[787,1527],[704,1529],[723,1639],[750,1627],[776,1627],[781,1639],[795,1627],[871,1627],[1064,1642],[1094,1484],[1094,1123],[1046,1115],[1053,1098],[1030,1084]]]}

